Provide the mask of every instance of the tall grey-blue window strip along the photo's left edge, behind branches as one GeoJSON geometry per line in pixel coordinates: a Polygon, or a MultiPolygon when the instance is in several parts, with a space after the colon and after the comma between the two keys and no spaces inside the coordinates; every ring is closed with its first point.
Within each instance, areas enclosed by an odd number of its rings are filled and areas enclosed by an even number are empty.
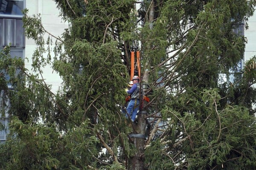
{"type": "MultiPolygon", "coordinates": [[[[22,10],[25,8],[25,0],[0,0],[0,51],[11,43],[10,54],[12,57],[24,58],[25,35],[22,22],[22,10]]],[[[0,72],[4,73],[4,71],[0,72]]],[[[19,70],[17,70],[17,73],[19,70]]],[[[5,78],[10,79],[9,75],[5,78]]],[[[8,88],[12,89],[11,84],[8,88]]],[[[3,91],[0,93],[0,102],[3,102],[3,91]]],[[[9,101],[6,105],[9,107],[9,101]]],[[[4,115],[0,115],[0,143],[6,141],[8,130],[8,114],[7,108],[1,108],[5,111],[4,115]]]]}

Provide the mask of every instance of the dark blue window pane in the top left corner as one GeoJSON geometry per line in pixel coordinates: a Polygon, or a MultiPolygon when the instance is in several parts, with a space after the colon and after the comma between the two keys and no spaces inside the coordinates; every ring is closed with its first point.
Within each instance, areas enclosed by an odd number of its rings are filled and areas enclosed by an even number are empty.
{"type": "Polygon", "coordinates": [[[0,14],[22,15],[23,0],[0,0],[0,14]]]}

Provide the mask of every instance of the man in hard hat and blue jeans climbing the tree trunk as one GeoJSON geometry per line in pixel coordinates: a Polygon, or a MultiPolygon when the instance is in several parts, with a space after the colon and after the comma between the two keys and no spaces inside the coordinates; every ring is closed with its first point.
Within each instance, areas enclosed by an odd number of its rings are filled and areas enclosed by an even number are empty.
{"type": "Polygon", "coordinates": [[[125,91],[131,95],[130,102],[128,106],[126,107],[126,115],[125,117],[130,117],[131,122],[134,122],[137,111],[140,106],[140,77],[139,76],[134,76],[132,78],[133,85],[131,86],[131,89],[128,90],[127,88],[125,91]]]}

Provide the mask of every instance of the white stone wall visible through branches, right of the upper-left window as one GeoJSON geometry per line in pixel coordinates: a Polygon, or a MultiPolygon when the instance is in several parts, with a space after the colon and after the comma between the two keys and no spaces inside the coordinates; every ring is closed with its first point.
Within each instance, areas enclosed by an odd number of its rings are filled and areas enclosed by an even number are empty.
{"type": "MultiPolygon", "coordinates": [[[[68,27],[68,23],[61,20],[59,16],[59,10],[56,8],[56,4],[53,0],[26,0],[26,8],[29,9],[29,14],[41,14],[41,20],[44,28],[49,31],[55,37],[60,36],[64,32],[64,29],[68,27]]],[[[48,34],[44,36],[47,40],[48,34]]],[[[55,38],[52,39],[53,43],[55,38]]],[[[35,51],[36,45],[34,40],[26,38],[25,57],[29,59],[25,60],[26,68],[31,70],[32,54],[35,51]]],[[[52,57],[54,54],[52,53],[52,57]]],[[[44,79],[47,84],[52,85],[52,92],[55,93],[58,90],[58,86],[61,84],[61,78],[56,72],[52,73],[52,68],[47,66],[43,69],[44,79]]]]}

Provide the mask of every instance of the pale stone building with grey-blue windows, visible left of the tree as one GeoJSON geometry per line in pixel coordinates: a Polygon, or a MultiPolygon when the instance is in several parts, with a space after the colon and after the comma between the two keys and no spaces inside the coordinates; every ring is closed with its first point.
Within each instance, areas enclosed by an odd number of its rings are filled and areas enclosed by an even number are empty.
{"type": "MultiPolygon", "coordinates": [[[[26,39],[23,34],[21,11],[24,8],[28,8],[31,15],[41,14],[44,28],[56,37],[61,36],[68,24],[58,17],[59,10],[56,9],[53,0],[0,0],[0,50],[11,43],[11,56],[28,58],[29,61],[25,60],[25,66],[28,70],[31,70],[31,57],[36,45],[34,40],[26,39]]],[[[45,35],[45,38],[47,37],[48,35],[45,35]]],[[[54,39],[53,42],[55,42],[54,39]]],[[[61,79],[58,74],[47,70],[51,69],[45,67],[43,76],[46,82],[52,85],[52,92],[55,92],[61,83],[61,79]]],[[[6,79],[8,78],[6,76],[6,79]]],[[[12,88],[11,85],[9,85],[9,88],[12,88]]],[[[0,93],[0,95],[3,95],[3,93],[0,93]]],[[[1,108],[1,110],[5,109],[1,108]]],[[[0,115],[0,123],[7,127],[8,115],[0,115]]],[[[8,133],[8,128],[0,131],[0,142],[6,140],[6,133],[8,133]]]]}

